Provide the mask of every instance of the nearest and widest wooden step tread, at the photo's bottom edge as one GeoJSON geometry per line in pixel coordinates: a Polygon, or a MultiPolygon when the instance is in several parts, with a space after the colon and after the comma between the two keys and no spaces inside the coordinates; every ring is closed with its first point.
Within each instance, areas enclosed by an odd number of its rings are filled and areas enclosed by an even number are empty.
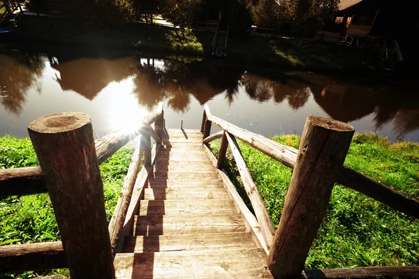
{"type": "Polygon", "coordinates": [[[265,258],[259,248],[123,253],[115,268],[117,278],[272,278],[265,258]]]}

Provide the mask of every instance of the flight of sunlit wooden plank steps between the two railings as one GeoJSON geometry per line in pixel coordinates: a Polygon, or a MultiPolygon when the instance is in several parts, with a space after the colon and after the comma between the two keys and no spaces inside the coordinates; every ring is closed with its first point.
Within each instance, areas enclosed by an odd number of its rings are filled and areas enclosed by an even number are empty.
{"type": "Polygon", "coordinates": [[[200,130],[168,129],[117,278],[272,278],[200,130]]]}

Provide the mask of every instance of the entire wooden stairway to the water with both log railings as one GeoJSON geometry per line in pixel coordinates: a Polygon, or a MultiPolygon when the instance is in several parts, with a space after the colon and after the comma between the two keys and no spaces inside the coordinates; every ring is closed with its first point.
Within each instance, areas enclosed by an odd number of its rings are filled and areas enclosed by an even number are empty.
{"type": "Polygon", "coordinates": [[[419,277],[418,266],[303,270],[335,181],[419,217],[416,199],[343,166],[353,135],[345,123],[310,116],[299,151],[207,106],[200,130],[166,129],[161,104],[137,130],[96,142],[81,113],[45,116],[28,130],[41,167],[0,169],[0,197],[48,193],[62,242],[1,246],[0,274],[68,267],[73,279],[419,277]],[[212,123],[221,132],[210,135],[212,123]],[[98,165],[138,135],[108,224],[98,165]],[[216,158],[208,143],[219,138],[216,158]],[[294,169],[276,232],[236,138],[294,169]],[[228,146],[254,215],[222,171],[228,146]]]}

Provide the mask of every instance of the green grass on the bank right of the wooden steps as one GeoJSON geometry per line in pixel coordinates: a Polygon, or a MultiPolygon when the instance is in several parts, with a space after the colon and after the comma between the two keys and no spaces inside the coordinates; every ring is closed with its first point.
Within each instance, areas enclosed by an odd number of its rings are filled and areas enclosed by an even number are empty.
{"type": "MultiPolygon", "coordinates": [[[[297,148],[295,135],[272,140],[297,148]]],[[[218,145],[212,146],[213,150],[218,145]]],[[[244,159],[274,225],[279,223],[291,169],[240,142],[244,159]]],[[[240,175],[228,154],[227,173],[240,189],[240,175]]],[[[355,134],[346,165],[411,197],[419,197],[419,144],[372,133],[355,134]]],[[[419,221],[354,190],[336,185],[306,268],[419,264],[419,221]]]]}

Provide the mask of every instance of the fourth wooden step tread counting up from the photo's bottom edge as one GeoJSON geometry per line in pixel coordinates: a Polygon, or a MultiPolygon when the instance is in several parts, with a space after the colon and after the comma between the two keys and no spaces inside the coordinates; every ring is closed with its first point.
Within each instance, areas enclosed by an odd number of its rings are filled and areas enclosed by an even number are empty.
{"type": "MultiPolygon", "coordinates": [[[[227,197],[228,198],[228,197],[227,197]]],[[[231,199],[212,200],[141,200],[140,216],[182,215],[191,213],[237,213],[231,199]]]]}

